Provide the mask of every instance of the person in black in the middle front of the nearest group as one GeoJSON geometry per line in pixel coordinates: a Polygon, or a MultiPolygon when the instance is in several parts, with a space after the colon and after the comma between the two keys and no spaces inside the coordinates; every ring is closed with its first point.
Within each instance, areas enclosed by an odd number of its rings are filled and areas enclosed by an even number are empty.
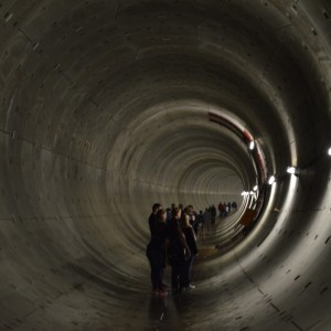
{"type": "Polygon", "coordinates": [[[171,265],[171,286],[174,293],[180,293],[184,287],[185,258],[190,258],[191,252],[186,244],[185,236],[180,227],[181,210],[172,211],[172,218],[168,227],[168,258],[171,265]]]}

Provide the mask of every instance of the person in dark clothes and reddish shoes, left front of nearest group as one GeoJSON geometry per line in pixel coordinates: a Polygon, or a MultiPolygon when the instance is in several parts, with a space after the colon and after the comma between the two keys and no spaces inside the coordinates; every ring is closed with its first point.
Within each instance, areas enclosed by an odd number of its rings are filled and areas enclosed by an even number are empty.
{"type": "Polygon", "coordinates": [[[163,282],[163,269],[166,267],[167,254],[167,212],[159,210],[156,215],[156,224],[152,237],[147,245],[146,256],[150,263],[150,278],[153,287],[153,292],[158,296],[167,296],[163,282]]]}

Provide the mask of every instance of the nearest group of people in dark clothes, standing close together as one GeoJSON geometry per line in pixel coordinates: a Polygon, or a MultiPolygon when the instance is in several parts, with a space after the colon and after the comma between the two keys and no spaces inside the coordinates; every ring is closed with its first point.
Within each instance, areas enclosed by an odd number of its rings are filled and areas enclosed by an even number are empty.
{"type": "Polygon", "coordinates": [[[191,269],[197,255],[194,232],[195,213],[193,206],[186,209],[173,204],[171,209],[162,209],[160,203],[152,206],[149,216],[151,238],[146,255],[151,268],[153,292],[167,296],[168,286],[163,281],[167,264],[171,266],[171,287],[173,293],[195,288],[191,282],[191,269]]]}

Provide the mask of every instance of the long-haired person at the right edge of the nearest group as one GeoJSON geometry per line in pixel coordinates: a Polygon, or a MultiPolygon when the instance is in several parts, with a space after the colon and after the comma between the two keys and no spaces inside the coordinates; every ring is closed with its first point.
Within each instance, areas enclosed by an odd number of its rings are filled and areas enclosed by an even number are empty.
{"type": "Polygon", "coordinates": [[[192,270],[194,257],[197,254],[197,248],[196,248],[196,237],[195,237],[193,227],[190,223],[189,215],[185,215],[185,223],[183,225],[183,234],[185,236],[188,246],[191,252],[191,256],[185,260],[185,264],[184,264],[184,288],[193,289],[193,288],[195,288],[195,286],[193,284],[191,284],[191,270],[192,270]]]}

